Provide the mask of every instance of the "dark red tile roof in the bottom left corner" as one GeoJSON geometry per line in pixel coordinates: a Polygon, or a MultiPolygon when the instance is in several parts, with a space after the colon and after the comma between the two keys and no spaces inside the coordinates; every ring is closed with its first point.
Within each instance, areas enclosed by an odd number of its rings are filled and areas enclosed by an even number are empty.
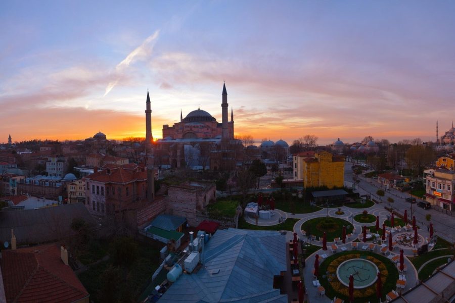
{"type": "Polygon", "coordinates": [[[56,244],[2,251],[7,302],[74,302],[88,296],[56,244]]]}

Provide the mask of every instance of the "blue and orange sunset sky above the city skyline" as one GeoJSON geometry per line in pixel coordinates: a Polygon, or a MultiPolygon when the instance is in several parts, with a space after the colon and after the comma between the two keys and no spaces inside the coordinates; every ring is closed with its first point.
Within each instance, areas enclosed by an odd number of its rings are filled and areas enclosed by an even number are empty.
{"type": "Polygon", "coordinates": [[[0,142],[145,137],[200,107],[235,134],[435,140],[455,120],[452,1],[0,2],[0,142]]]}

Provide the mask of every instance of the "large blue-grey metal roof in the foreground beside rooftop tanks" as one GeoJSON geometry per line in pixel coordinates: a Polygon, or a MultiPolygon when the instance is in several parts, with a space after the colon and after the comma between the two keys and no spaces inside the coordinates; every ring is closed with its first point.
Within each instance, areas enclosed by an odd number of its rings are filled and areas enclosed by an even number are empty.
{"type": "Polygon", "coordinates": [[[183,274],[162,302],[287,302],[273,288],[286,271],[286,238],[276,231],[218,230],[206,245],[204,267],[183,274]],[[219,270],[217,274],[212,274],[219,270]]]}

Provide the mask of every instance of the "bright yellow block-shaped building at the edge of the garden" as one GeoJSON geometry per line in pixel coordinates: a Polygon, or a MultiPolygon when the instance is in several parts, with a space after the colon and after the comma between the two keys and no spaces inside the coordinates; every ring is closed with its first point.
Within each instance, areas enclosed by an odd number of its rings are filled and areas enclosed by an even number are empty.
{"type": "Polygon", "coordinates": [[[303,186],[328,188],[344,186],[344,157],[333,156],[327,151],[303,159],[303,186]]]}

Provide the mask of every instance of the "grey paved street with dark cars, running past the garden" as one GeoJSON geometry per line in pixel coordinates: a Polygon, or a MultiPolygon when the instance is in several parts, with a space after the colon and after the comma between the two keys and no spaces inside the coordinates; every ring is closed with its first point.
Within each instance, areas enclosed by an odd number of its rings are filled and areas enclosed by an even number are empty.
{"type": "MultiPolygon", "coordinates": [[[[348,186],[352,185],[352,163],[345,162],[345,170],[344,170],[344,180],[348,186]]],[[[356,184],[355,192],[360,192],[360,194],[371,194],[371,197],[375,200],[382,201],[384,206],[388,206],[389,203],[387,202],[388,197],[392,197],[394,199],[394,203],[392,203],[391,207],[395,210],[400,212],[401,214],[404,213],[404,210],[407,209],[408,219],[412,220],[412,215],[416,216],[416,220],[418,221],[418,225],[422,229],[426,229],[427,226],[430,224],[430,221],[425,219],[427,214],[431,214],[431,222],[433,223],[433,227],[435,230],[436,235],[440,236],[441,238],[454,243],[455,242],[455,218],[449,214],[441,213],[440,211],[436,211],[434,209],[424,210],[417,206],[416,204],[411,204],[405,201],[406,197],[411,197],[410,194],[407,192],[400,192],[396,189],[388,189],[384,190],[384,186],[379,184],[376,180],[372,178],[365,178],[362,175],[359,175],[360,183],[356,184]],[[358,188],[357,188],[358,187],[358,188]],[[378,189],[383,189],[385,192],[384,197],[379,197],[376,194],[378,189]]],[[[418,199],[419,200],[419,199],[418,199]]]]}

